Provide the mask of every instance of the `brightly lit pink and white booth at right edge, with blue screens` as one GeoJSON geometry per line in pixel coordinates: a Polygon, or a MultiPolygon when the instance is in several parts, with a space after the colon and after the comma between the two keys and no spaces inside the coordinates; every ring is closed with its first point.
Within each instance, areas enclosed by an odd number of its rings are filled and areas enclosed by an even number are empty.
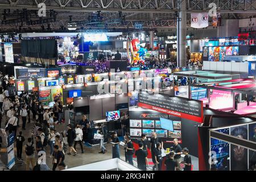
{"type": "Polygon", "coordinates": [[[191,84],[191,97],[195,97],[194,88],[200,88],[200,92],[206,89],[207,98],[200,98],[200,100],[203,100],[204,104],[207,104],[210,108],[231,110],[242,115],[254,114],[256,113],[253,98],[256,95],[254,92],[255,86],[253,78],[191,84]]]}

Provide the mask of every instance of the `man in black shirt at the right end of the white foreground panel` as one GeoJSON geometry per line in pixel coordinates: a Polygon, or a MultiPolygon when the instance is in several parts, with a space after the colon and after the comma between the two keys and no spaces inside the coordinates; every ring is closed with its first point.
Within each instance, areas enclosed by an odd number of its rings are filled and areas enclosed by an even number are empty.
{"type": "Polygon", "coordinates": [[[135,152],[135,155],[137,156],[137,163],[138,163],[138,168],[141,169],[142,171],[147,170],[147,152],[143,150],[143,143],[139,142],[139,150],[135,152]]]}

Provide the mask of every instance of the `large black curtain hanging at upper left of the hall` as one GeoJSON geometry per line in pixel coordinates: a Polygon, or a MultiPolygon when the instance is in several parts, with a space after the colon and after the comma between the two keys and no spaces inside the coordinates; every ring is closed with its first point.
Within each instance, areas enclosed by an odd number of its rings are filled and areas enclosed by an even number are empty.
{"type": "Polygon", "coordinates": [[[57,40],[22,40],[22,56],[53,59],[57,57],[57,40]]]}

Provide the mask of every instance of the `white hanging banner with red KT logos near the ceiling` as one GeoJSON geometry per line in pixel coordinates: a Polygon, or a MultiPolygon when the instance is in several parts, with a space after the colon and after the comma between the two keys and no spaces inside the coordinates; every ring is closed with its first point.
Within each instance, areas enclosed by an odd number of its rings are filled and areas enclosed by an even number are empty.
{"type": "Polygon", "coordinates": [[[192,28],[205,28],[208,27],[208,13],[191,13],[191,27],[192,28]]]}

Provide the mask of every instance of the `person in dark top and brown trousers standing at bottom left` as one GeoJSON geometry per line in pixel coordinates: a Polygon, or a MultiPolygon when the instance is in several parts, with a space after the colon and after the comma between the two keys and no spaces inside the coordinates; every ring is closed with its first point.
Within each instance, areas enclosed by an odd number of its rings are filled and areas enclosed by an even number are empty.
{"type": "Polygon", "coordinates": [[[25,152],[26,152],[26,169],[27,171],[30,171],[30,164],[32,166],[32,169],[35,167],[35,156],[34,156],[34,150],[35,146],[32,142],[32,138],[27,139],[27,144],[25,146],[25,152]]]}

